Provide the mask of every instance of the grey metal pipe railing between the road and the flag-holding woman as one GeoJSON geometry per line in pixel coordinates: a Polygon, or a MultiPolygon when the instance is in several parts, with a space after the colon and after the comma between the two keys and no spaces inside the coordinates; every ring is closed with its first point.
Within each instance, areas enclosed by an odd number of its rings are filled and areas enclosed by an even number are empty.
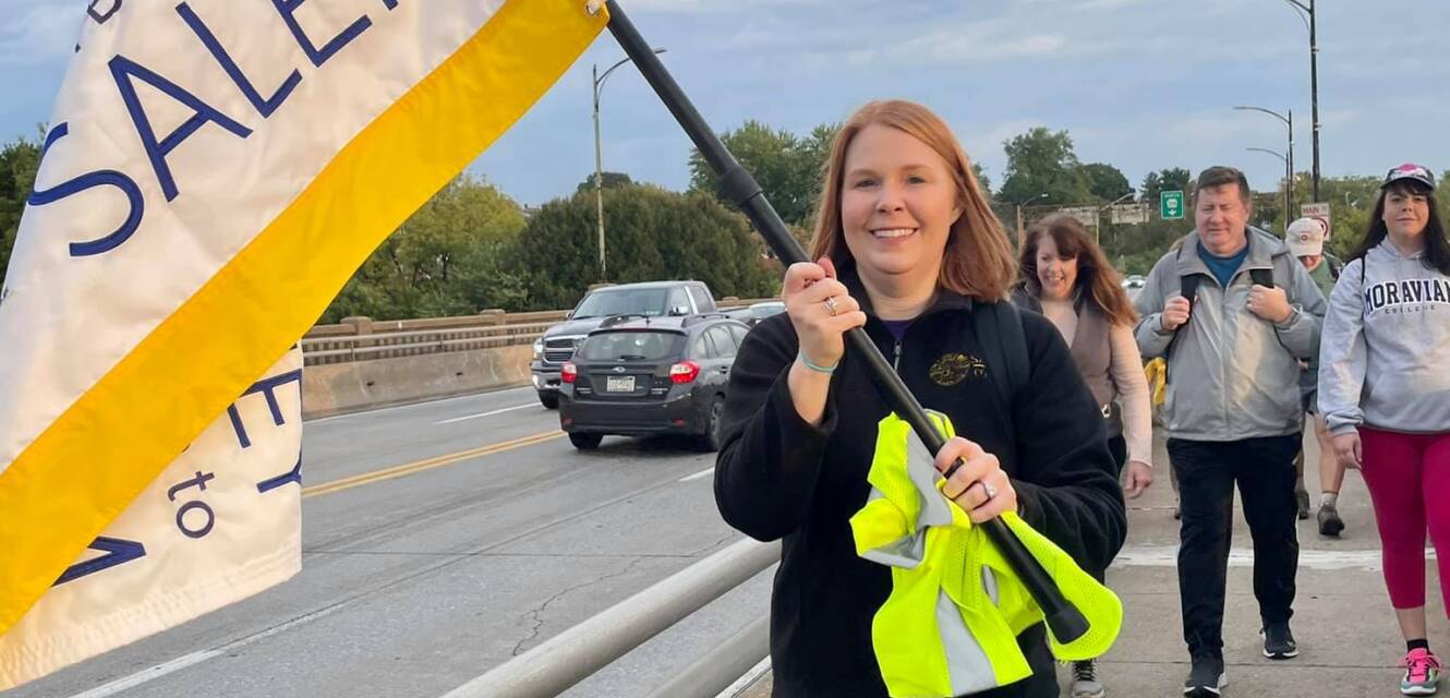
{"type": "MultiPolygon", "coordinates": [[[[442,698],[552,698],[779,560],[780,543],[757,543],[750,538],[737,541],[450,691],[442,698]]],[[[757,641],[758,625],[757,621],[728,640],[731,652],[757,641]]],[[[719,649],[710,656],[718,653],[719,649]]],[[[755,654],[729,681],[745,673],[763,654],[755,654]]],[[[718,681],[715,676],[705,676],[706,672],[697,670],[697,666],[699,663],[692,665],[687,672],[695,672],[693,676],[700,679],[718,681]]],[[[728,686],[729,681],[718,688],[696,683],[661,695],[713,697],[728,686]]]]}

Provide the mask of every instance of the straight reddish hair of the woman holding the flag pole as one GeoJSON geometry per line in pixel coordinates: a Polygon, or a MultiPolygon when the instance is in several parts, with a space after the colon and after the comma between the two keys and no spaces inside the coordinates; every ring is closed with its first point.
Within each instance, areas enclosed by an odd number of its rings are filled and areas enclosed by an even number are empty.
{"type": "Polygon", "coordinates": [[[871,125],[893,128],[927,144],[947,161],[956,181],[961,216],[947,235],[937,286],[977,300],[1006,297],[1015,274],[1012,244],[992,213],[992,206],[987,205],[987,197],[972,171],[972,161],[947,122],[915,102],[871,102],[857,109],[841,126],[831,144],[831,158],[826,161],[811,258],[829,257],[837,266],[856,261],[845,245],[845,231],[841,228],[841,180],[845,176],[845,151],[851,147],[851,141],[871,125]]]}

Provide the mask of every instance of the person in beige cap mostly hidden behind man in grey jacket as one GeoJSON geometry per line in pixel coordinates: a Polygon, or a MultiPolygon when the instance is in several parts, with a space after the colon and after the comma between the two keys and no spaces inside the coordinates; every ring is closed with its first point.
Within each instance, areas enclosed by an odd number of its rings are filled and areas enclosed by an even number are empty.
{"type": "MultiPolygon", "coordinates": [[[[1320,287],[1320,293],[1324,293],[1324,297],[1330,297],[1330,292],[1334,290],[1334,282],[1338,280],[1340,268],[1344,264],[1333,254],[1324,251],[1325,237],[1328,237],[1328,225],[1324,219],[1301,218],[1289,223],[1285,242],[1289,245],[1289,252],[1304,264],[1305,271],[1309,273],[1309,279],[1314,279],[1314,284],[1320,287]]],[[[1344,467],[1334,457],[1334,443],[1330,440],[1324,415],[1318,414],[1318,361],[1308,361],[1304,374],[1299,376],[1299,396],[1304,399],[1305,414],[1314,419],[1314,438],[1320,441],[1320,535],[1337,537],[1344,531],[1344,520],[1340,518],[1338,511],[1344,467]]],[[[1308,518],[1309,498],[1304,490],[1304,450],[1295,459],[1293,467],[1299,473],[1299,485],[1295,489],[1295,495],[1299,496],[1299,518],[1308,518]]]]}

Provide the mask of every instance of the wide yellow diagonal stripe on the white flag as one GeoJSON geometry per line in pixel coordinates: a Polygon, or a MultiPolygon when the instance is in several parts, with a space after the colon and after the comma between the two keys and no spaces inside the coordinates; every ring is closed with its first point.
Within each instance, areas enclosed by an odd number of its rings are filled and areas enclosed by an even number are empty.
{"type": "Polygon", "coordinates": [[[0,472],[0,634],[608,23],[510,0],[0,472]]]}

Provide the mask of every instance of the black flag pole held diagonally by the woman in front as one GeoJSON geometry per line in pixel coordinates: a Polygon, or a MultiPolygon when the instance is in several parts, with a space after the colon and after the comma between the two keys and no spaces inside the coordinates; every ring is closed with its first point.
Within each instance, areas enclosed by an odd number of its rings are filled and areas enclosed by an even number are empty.
{"type": "MultiPolygon", "coordinates": [[[[639,73],[650,83],[650,87],[654,89],[660,100],[664,102],[664,106],[674,115],[674,119],[690,136],[690,141],[699,148],[700,155],[705,157],[705,161],[710,164],[710,168],[721,180],[721,192],[745,212],[745,216],[766,237],[766,242],[780,261],[787,266],[798,261],[811,261],[805,250],[800,248],[800,244],[796,242],[796,238],[786,229],[786,223],[780,219],[780,215],[766,200],[760,184],[735,161],[735,157],[725,148],[725,144],[715,136],[715,132],[705,123],[695,104],[684,96],[674,77],[664,68],[660,57],[654,54],[654,49],[644,41],[644,36],[639,35],[639,30],[629,22],[624,10],[619,9],[619,4],[615,0],[608,0],[605,4],[609,9],[609,33],[615,36],[615,41],[625,49],[625,54],[634,59],[639,73]]],[[[858,358],[866,360],[873,380],[887,395],[892,411],[911,424],[912,430],[921,437],[931,453],[940,451],[947,441],[932,427],[927,418],[927,411],[916,402],[916,396],[906,389],[906,383],[902,382],[900,376],[892,370],[892,366],[886,361],[882,351],[876,348],[870,337],[866,335],[866,331],[856,328],[847,332],[845,337],[850,350],[856,351],[858,358]]],[[[957,461],[953,470],[960,464],[961,461],[957,461]]],[[[948,470],[950,473],[951,470],[948,470]]],[[[1012,572],[1016,573],[1028,594],[1041,607],[1053,637],[1060,643],[1069,643],[1088,633],[1088,620],[1063,598],[1061,589],[1057,588],[1057,583],[1053,582],[1053,578],[1047,575],[1037,559],[1027,551],[1027,546],[1022,544],[1016,534],[1002,520],[990,520],[982,525],[987,533],[987,538],[998,547],[1002,557],[1012,566],[1012,572]]]]}

